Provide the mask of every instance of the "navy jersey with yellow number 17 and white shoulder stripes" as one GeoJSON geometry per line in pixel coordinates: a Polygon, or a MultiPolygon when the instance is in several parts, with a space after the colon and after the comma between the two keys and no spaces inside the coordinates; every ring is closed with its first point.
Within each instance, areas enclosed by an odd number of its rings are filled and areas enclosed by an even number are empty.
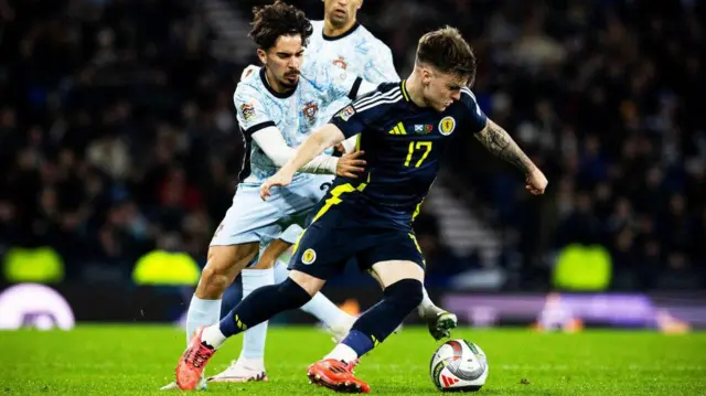
{"type": "Polygon", "coordinates": [[[445,111],[415,105],[405,81],[384,83],[341,109],[331,124],[346,138],[359,135],[357,150],[365,151],[365,174],[355,180],[355,202],[376,214],[408,227],[429,192],[439,162],[453,133],[475,133],[485,128],[486,117],[469,88],[445,111]],[[365,185],[361,185],[364,183],[365,185]]]}

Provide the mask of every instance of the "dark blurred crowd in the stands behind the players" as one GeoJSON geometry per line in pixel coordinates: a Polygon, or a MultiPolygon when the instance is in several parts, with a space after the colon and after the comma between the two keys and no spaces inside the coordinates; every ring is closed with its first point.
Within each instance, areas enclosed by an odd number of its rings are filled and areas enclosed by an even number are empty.
{"type": "MultiPolygon", "coordinates": [[[[468,135],[448,156],[502,257],[521,257],[499,263],[532,280],[517,287],[549,287],[573,243],[610,253],[614,288],[706,286],[703,2],[367,0],[359,17],[403,77],[429,29],[474,47],[481,107],[549,179],[531,196],[468,135]]],[[[214,57],[214,34],[196,1],[0,0],[0,254],[51,246],[78,282],[127,280],[156,248],[205,260],[243,157],[233,90],[256,61],[214,57]]],[[[443,246],[429,213],[416,232],[443,246]]]]}

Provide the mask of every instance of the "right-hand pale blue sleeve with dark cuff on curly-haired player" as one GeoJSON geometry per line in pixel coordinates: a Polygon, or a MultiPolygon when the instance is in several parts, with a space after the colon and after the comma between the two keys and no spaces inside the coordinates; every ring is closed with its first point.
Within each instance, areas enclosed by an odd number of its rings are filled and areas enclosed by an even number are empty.
{"type": "Polygon", "coordinates": [[[323,93],[324,107],[346,96],[354,99],[363,82],[362,77],[321,61],[312,61],[302,74],[323,93]]]}

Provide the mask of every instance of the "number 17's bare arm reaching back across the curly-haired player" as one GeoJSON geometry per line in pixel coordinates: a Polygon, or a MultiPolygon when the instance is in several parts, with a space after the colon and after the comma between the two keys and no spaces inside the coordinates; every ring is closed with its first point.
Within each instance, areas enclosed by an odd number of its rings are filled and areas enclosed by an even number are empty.
{"type": "MultiPolygon", "coordinates": [[[[270,195],[269,190],[276,185],[289,185],[295,173],[309,163],[312,159],[323,152],[329,147],[343,141],[345,137],[339,127],[333,124],[327,124],[318,131],[310,135],[307,140],[299,146],[295,156],[287,161],[271,178],[267,179],[260,186],[260,197],[265,200],[270,195]]],[[[360,153],[362,154],[362,152],[360,153]]]]}

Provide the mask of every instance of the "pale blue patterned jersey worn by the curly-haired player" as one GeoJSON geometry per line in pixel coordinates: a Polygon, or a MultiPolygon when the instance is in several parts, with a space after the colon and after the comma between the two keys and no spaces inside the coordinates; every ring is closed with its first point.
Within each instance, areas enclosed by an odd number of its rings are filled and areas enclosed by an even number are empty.
{"type": "MultiPolygon", "coordinates": [[[[321,110],[350,95],[355,97],[362,79],[314,57],[304,60],[297,87],[285,94],[275,92],[265,68],[240,81],[233,94],[237,120],[246,141],[240,182],[260,184],[278,168],[250,138],[256,131],[277,127],[289,147],[298,147],[319,124],[321,110]],[[245,178],[245,180],[244,180],[245,178]]],[[[298,173],[295,178],[308,178],[298,173]]]]}

